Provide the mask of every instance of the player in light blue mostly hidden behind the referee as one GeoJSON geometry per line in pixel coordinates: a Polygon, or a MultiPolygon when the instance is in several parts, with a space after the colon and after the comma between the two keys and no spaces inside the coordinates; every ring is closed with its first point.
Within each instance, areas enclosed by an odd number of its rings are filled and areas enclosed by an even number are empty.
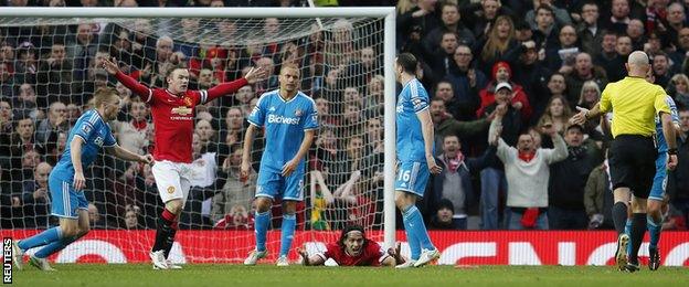
{"type": "MultiPolygon", "coordinates": [[[[672,125],[675,126],[676,134],[681,132],[679,128],[679,113],[677,111],[677,105],[670,96],[666,96],[666,102],[670,107],[670,116],[672,117],[672,125]]],[[[648,244],[648,268],[657,270],[660,267],[660,254],[658,253],[658,242],[660,241],[660,230],[662,228],[662,205],[665,202],[665,189],[667,187],[668,169],[675,167],[668,166],[668,157],[677,156],[677,150],[670,150],[668,148],[668,141],[662,132],[662,121],[660,117],[656,116],[656,142],[658,147],[658,158],[656,159],[656,176],[648,194],[648,201],[646,202],[646,227],[650,237],[648,244]]],[[[677,162],[677,161],[674,161],[677,162]]],[[[625,225],[625,233],[632,233],[632,217],[627,217],[625,225]]],[[[633,244],[627,247],[627,254],[632,254],[633,244]]],[[[638,270],[638,263],[629,263],[627,270],[638,270]]]]}

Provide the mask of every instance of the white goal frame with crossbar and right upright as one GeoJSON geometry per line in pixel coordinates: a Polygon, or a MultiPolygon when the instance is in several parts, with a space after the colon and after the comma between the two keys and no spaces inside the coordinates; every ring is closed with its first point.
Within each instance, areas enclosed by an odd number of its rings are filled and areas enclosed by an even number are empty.
{"type": "MultiPolygon", "coordinates": [[[[212,23],[213,21],[227,21],[234,24],[236,30],[239,31],[235,34],[235,38],[225,39],[226,35],[218,33],[216,30],[208,30],[208,31],[199,31],[199,33],[191,33],[189,35],[190,39],[194,39],[195,43],[203,44],[204,41],[209,43],[220,43],[219,41],[231,41],[237,42],[242,44],[259,43],[265,44],[268,42],[278,42],[282,44],[287,42],[297,42],[298,39],[305,38],[309,35],[309,21],[314,23],[318,22],[317,26],[324,31],[330,31],[338,25],[338,19],[347,19],[349,22],[353,23],[354,26],[357,24],[369,25],[363,31],[369,31],[370,33],[382,34],[382,43],[371,43],[371,36],[365,33],[361,33],[357,39],[361,42],[365,42],[368,45],[380,45],[378,49],[380,50],[380,55],[377,57],[382,61],[380,63],[380,71],[383,76],[383,98],[384,104],[381,105],[383,108],[382,115],[379,115],[379,119],[382,121],[382,142],[383,142],[383,168],[382,168],[382,178],[383,178],[383,188],[382,188],[382,210],[375,210],[378,215],[382,217],[382,226],[379,226],[378,230],[382,230],[377,234],[382,234],[383,242],[385,247],[393,247],[395,243],[395,203],[394,203],[394,179],[395,179],[395,105],[396,105],[396,83],[394,76],[394,60],[396,55],[395,51],[395,8],[394,7],[365,7],[365,8],[14,8],[7,7],[0,9],[0,29],[3,28],[15,28],[15,26],[31,26],[31,25],[70,25],[75,26],[83,21],[85,22],[102,22],[102,23],[117,23],[124,26],[132,25],[135,19],[145,19],[145,20],[174,20],[174,23],[182,22],[184,19],[206,19],[204,23],[212,23]],[[259,23],[263,23],[263,19],[266,18],[277,18],[282,22],[283,33],[276,34],[275,39],[259,39],[259,33],[254,30],[259,30],[259,23]],[[357,19],[375,19],[377,24],[371,24],[372,21],[358,22],[357,19]],[[322,23],[321,23],[322,22],[322,23]],[[382,31],[380,31],[382,26],[382,31]],[[368,41],[368,42],[367,42],[368,41]]],[[[199,23],[197,23],[199,24],[199,23]]],[[[204,29],[204,24],[198,25],[200,30],[204,29]]],[[[157,29],[157,26],[153,26],[157,29]]],[[[167,30],[170,33],[170,36],[174,40],[178,40],[180,33],[184,31],[169,29],[167,30]]],[[[1,32],[1,30],[0,30],[1,32]]],[[[132,33],[136,31],[132,31],[132,33]]],[[[0,33],[0,39],[3,36],[0,33]]],[[[158,34],[157,36],[160,36],[158,34]]],[[[190,40],[191,41],[191,40],[190,40]]],[[[17,43],[19,44],[19,43],[17,43]]],[[[297,44],[300,45],[300,44],[297,44]]],[[[42,52],[49,51],[46,46],[39,47],[42,52]],[[46,50],[47,49],[47,50],[46,50]]],[[[147,46],[147,49],[155,49],[155,46],[147,46]]],[[[304,46],[298,46],[298,49],[304,49],[304,46]]],[[[19,50],[18,50],[19,51],[19,50]]],[[[174,52],[174,51],[173,51],[174,52]]],[[[350,51],[351,52],[351,51],[350,51]]],[[[326,53],[327,54],[327,53],[326,53]]],[[[137,56],[137,55],[132,55],[137,56]]],[[[142,56],[142,55],[141,55],[142,56]]],[[[341,55],[336,55],[333,57],[339,59],[341,55]]],[[[350,55],[348,55],[350,56],[350,55]]],[[[328,55],[325,55],[328,57],[328,55]]],[[[19,57],[18,57],[19,60],[19,57]]],[[[240,59],[241,61],[242,59],[240,59]]],[[[256,60],[255,57],[244,59],[248,62],[256,60]]],[[[327,60],[326,60],[327,61],[327,60]]],[[[336,60],[340,61],[340,60],[336,60]]],[[[348,66],[350,64],[342,64],[341,68],[338,71],[356,71],[354,67],[348,66]]],[[[352,64],[353,65],[353,64],[352,64]]],[[[191,67],[190,67],[191,68],[191,67]]],[[[304,68],[304,67],[303,67],[304,68]]],[[[144,68],[142,68],[144,70],[144,68]]],[[[331,70],[330,70],[331,71],[331,70]]],[[[235,71],[236,75],[241,75],[241,71],[235,71]]],[[[328,81],[328,76],[325,72],[320,72],[321,74],[318,76],[318,81],[322,81],[321,85],[328,81]]],[[[314,75],[311,75],[314,76],[314,75]]],[[[232,81],[234,78],[227,78],[227,81],[232,81]]],[[[39,79],[40,81],[40,79],[39,79]]],[[[76,79],[75,79],[76,81],[76,79]]],[[[312,79],[316,82],[316,76],[312,79]]],[[[369,81],[367,78],[367,81],[369,81]]],[[[86,82],[86,79],[84,79],[86,82]]],[[[269,82],[269,81],[268,81],[269,82]]],[[[368,82],[367,82],[368,83],[368,82]]],[[[36,83],[41,84],[41,83],[36,83]]],[[[110,83],[114,84],[114,83],[110,83]]],[[[17,85],[21,85],[21,83],[17,83],[17,85]]],[[[368,84],[367,84],[368,85],[368,84]]],[[[347,85],[337,85],[339,89],[343,89],[347,85]]],[[[368,91],[367,86],[356,86],[354,84],[350,84],[349,86],[356,87],[360,93],[362,91],[368,91]]],[[[267,87],[266,87],[267,88],[267,87]]],[[[339,91],[342,92],[342,91],[339,91]]],[[[324,92],[325,93],[325,92],[324,92]]],[[[369,96],[369,95],[364,95],[369,96]]],[[[41,97],[39,95],[39,97],[41,97]]],[[[374,99],[364,98],[363,103],[375,103],[374,99]]],[[[84,103],[85,104],[85,103],[84,103]]],[[[346,103],[335,103],[340,106],[347,106],[346,103]]],[[[361,113],[364,113],[364,109],[369,109],[371,107],[362,106],[361,113]]],[[[49,111],[45,110],[47,114],[49,111]]],[[[341,110],[336,110],[335,113],[344,113],[341,110]]],[[[368,113],[368,111],[367,111],[368,113]]],[[[224,114],[223,114],[224,117],[224,114]]],[[[129,118],[129,116],[127,116],[129,118]]],[[[363,125],[364,123],[356,123],[357,127],[363,125]]],[[[35,128],[39,125],[36,123],[35,128]]],[[[353,127],[333,127],[333,130],[352,130],[353,127]]],[[[219,132],[223,132],[223,130],[219,130],[219,132]]],[[[347,131],[349,132],[349,131],[347,131]]],[[[365,128],[362,129],[361,132],[367,132],[365,128]]],[[[344,144],[348,138],[340,137],[339,131],[336,131],[337,140],[342,141],[338,144],[340,149],[344,149],[344,144]]],[[[349,135],[349,134],[348,134],[349,135]]],[[[242,135],[243,136],[243,135],[242,135]]],[[[361,138],[365,138],[364,135],[356,135],[361,138]]],[[[215,137],[214,140],[224,141],[225,138],[215,137]]],[[[344,151],[344,150],[340,150],[344,151]]],[[[219,151],[220,152],[220,151],[219,151]]],[[[257,167],[254,162],[254,167],[257,167]]],[[[333,162],[336,163],[336,162],[333,162]]],[[[97,163],[94,163],[97,164],[97,163]]],[[[223,162],[218,162],[218,166],[222,166],[223,162]]],[[[115,168],[113,168],[115,169],[115,168]]],[[[108,183],[109,184],[109,183],[108,183]]],[[[104,184],[107,185],[107,184],[104,184]]],[[[308,187],[308,183],[305,185],[308,187]]],[[[335,190],[333,190],[335,192],[335,190]]],[[[309,196],[308,188],[304,191],[305,198],[309,196]]],[[[108,203],[109,204],[109,203],[108,203]]],[[[307,208],[308,209],[308,208],[307,208]]],[[[308,216],[308,215],[307,215],[308,216]]],[[[308,221],[308,217],[306,219],[308,221]]],[[[276,227],[273,227],[276,230],[276,227]]],[[[297,231],[299,232],[299,230],[297,231]]],[[[380,236],[380,235],[379,235],[380,236]]],[[[380,240],[380,238],[379,238],[380,240]]],[[[253,240],[252,240],[253,241],[253,240]]],[[[148,246],[146,246],[148,247],[148,246]]],[[[298,247],[298,246],[293,246],[298,247]]]]}

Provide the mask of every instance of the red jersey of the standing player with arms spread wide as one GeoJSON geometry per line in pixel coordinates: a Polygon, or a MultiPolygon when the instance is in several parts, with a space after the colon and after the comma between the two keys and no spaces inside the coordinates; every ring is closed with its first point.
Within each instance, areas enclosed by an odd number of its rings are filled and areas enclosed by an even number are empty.
{"type": "Polygon", "coordinates": [[[220,84],[209,91],[187,91],[184,95],[179,96],[163,88],[148,88],[121,72],[115,76],[151,107],[156,137],[153,158],[158,161],[186,163],[192,161],[191,141],[197,105],[234,93],[247,84],[245,78],[240,78],[220,84]]]}

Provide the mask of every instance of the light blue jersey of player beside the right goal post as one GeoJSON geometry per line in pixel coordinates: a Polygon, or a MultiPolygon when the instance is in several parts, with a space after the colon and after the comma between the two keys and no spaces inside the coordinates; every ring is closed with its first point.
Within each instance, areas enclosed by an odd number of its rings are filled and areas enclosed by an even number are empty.
{"type": "Polygon", "coordinates": [[[428,93],[418,79],[406,83],[398,96],[398,160],[426,162],[417,113],[428,108],[428,93]]]}

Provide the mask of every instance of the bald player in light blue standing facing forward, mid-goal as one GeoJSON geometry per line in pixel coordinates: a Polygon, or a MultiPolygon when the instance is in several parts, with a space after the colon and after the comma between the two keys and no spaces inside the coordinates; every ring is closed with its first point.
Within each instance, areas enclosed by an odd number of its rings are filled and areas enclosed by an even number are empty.
{"type": "Polygon", "coordinates": [[[315,102],[299,92],[300,71],[296,65],[283,65],[279,89],[263,94],[248,116],[251,124],[244,136],[244,153],[240,176],[246,180],[251,169],[251,149],[256,129],[264,128],[265,149],[256,182],[255,235],[256,248],[244,261],[255,265],[264,258],[266,233],[271,224],[271,208],[276,199],[283,200],[283,226],[277,266],[289,265],[287,255],[294,238],[297,202],[303,200],[304,157],[318,129],[315,102]]]}

